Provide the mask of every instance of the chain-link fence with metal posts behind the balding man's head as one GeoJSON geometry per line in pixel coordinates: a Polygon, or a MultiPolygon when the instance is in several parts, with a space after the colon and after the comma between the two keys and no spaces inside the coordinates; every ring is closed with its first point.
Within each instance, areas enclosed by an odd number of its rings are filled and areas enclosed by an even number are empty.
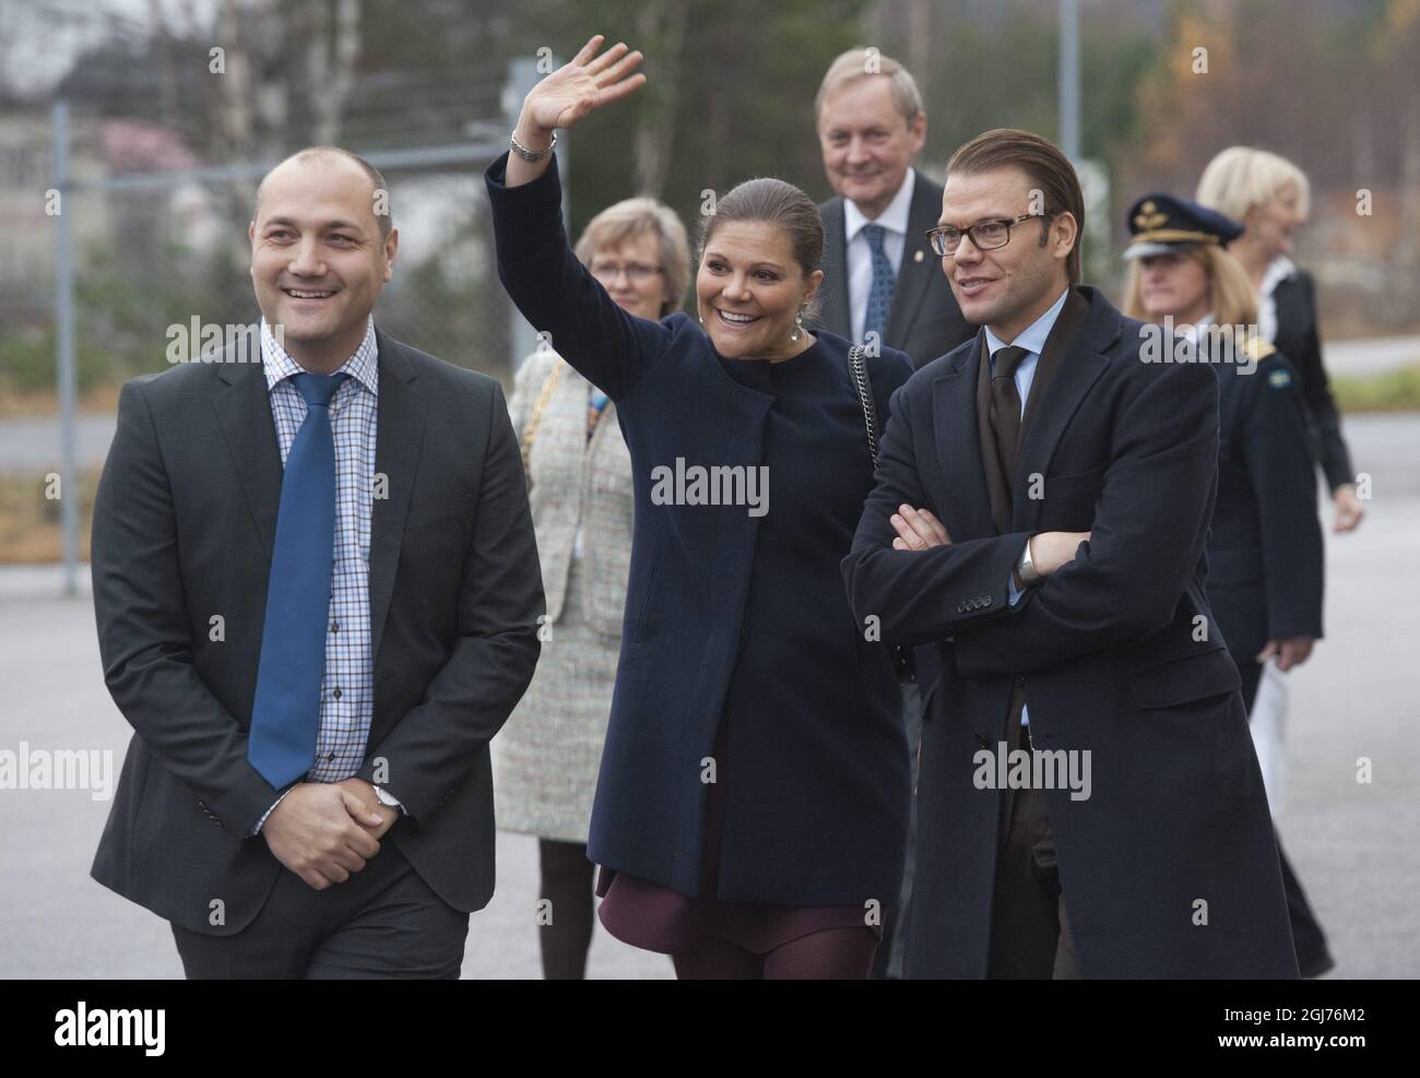
{"type": "MultiPolygon", "coordinates": [[[[85,129],[82,121],[75,126],[85,129]]],[[[84,138],[71,153],[82,159],[82,152],[84,138]]],[[[497,281],[481,180],[490,146],[368,158],[389,183],[400,234],[393,280],[375,308],[381,327],[449,362],[507,379],[513,320],[497,281]]],[[[260,318],[246,232],[256,178],[270,163],[77,178],[58,192],[57,213],[68,219],[81,393],[162,369],[175,349],[186,359],[187,344],[199,341],[196,327],[260,318]]],[[[30,264],[54,257],[41,249],[30,264]]],[[[6,389],[51,389],[62,317],[54,314],[54,278],[31,273],[16,285],[6,288],[0,328],[6,389]]]]}

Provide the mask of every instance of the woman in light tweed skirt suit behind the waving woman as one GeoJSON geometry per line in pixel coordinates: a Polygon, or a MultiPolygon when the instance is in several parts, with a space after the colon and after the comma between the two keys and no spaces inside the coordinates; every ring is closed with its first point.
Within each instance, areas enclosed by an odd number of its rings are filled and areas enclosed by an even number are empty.
{"type": "MultiPolygon", "coordinates": [[[[653,199],[599,213],[577,257],[642,318],[680,307],[690,244],[653,199]]],[[[555,347],[555,341],[552,342],[555,347]]],[[[611,712],[630,565],[630,457],[616,406],[552,348],[530,355],[510,401],[542,561],[547,625],[537,673],[493,740],[498,827],[538,837],[542,973],[581,979],[592,939],[586,831],[611,712]]]]}

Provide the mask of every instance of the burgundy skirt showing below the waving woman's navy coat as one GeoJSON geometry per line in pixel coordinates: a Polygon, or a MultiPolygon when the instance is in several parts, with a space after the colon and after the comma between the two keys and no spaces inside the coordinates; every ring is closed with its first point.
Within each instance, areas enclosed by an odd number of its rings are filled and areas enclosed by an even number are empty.
{"type": "Polygon", "coordinates": [[[714,758],[720,767],[710,784],[701,893],[679,891],[601,866],[596,915],[602,926],[623,943],[662,954],[684,950],[704,936],[728,940],[751,954],[767,954],[784,943],[825,929],[868,927],[882,940],[880,925],[866,925],[861,906],[782,906],[771,902],[720,902],[720,845],[724,838],[727,778],[724,763],[728,719],[716,731],[714,758]]]}

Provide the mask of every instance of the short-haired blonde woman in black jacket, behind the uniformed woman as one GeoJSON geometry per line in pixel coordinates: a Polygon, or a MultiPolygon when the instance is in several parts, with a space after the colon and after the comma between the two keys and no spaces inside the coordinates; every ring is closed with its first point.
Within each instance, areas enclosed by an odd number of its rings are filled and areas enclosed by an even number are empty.
{"type": "Polygon", "coordinates": [[[1277,345],[1301,381],[1311,453],[1336,510],[1332,530],[1352,531],[1366,510],[1356,497],[1356,473],[1322,365],[1316,290],[1311,274],[1291,260],[1294,237],[1311,209],[1306,173],[1277,153],[1230,146],[1203,170],[1197,200],[1242,224],[1228,251],[1257,290],[1262,338],[1277,345]]]}

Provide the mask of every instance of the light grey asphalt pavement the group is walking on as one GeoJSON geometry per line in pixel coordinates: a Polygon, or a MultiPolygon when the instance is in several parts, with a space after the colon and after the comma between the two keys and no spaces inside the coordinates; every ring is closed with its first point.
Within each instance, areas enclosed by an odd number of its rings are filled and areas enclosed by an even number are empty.
{"type": "MultiPolygon", "coordinates": [[[[1358,533],[1328,531],[1326,639],[1289,675],[1279,827],[1331,936],[1332,976],[1409,979],[1420,976],[1420,415],[1355,416],[1346,432],[1372,500],[1358,533]]],[[[62,598],[54,567],[0,570],[0,751],[111,751],[116,775],[129,727],[104,687],[87,591],[62,598]]],[[[3,976],[180,976],[166,923],[88,876],[108,807],[85,790],[0,790],[3,976]]],[[[497,856],[463,976],[537,977],[537,844],[500,835],[497,856]]],[[[591,976],[672,970],[598,926],[591,976]]]]}

